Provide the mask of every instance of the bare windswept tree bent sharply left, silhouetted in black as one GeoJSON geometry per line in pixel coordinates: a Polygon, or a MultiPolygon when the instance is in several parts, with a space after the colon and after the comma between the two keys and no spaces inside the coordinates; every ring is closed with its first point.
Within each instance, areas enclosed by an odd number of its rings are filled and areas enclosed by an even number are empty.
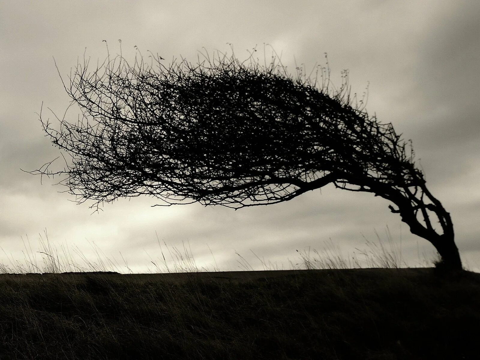
{"type": "Polygon", "coordinates": [[[61,171],[50,171],[49,162],[32,173],[64,175],[60,183],[77,202],[94,200],[96,210],[143,194],[164,206],[238,209],[333,183],[389,200],[410,231],[433,244],[439,265],[462,269],[450,214],[415,167],[411,141],[407,154],[392,124],[364,111],[365,94],[360,104],[350,97],[348,72],[332,90],[328,61],[313,78],[301,67],[294,77],[276,56],[260,65],[255,51],[243,62],[232,49],[168,66],[152,53],[150,64],[139,53],[133,66],[108,56],[93,72],[84,59],[69,84],[62,79],[82,117],[57,118],[54,130],[39,114],[72,161],[61,171]]]}

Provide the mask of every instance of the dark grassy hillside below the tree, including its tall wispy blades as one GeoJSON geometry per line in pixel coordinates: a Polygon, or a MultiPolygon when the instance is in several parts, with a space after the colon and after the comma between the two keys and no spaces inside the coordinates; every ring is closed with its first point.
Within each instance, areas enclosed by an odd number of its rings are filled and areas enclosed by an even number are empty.
{"type": "Polygon", "coordinates": [[[24,267],[11,260],[1,269],[2,360],[478,359],[480,274],[402,268],[398,252],[383,244],[360,252],[383,268],[361,269],[358,257],[329,249],[299,252],[290,271],[214,266],[206,274],[189,248],[164,243],[151,262],[167,274],[144,276],[59,274],[120,264],[97,248],[95,262],[78,265],[47,234],[41,244],[42,270],[29,242],[24,267]]]}

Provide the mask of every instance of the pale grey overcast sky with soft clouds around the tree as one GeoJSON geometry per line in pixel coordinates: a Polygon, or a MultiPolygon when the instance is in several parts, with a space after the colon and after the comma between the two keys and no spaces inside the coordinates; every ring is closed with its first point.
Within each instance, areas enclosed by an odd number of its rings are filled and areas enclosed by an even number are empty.
{"type": "MultiPolygon", "coordinates": [[[[98,266],[109,259],[116,267],[105,269],[121,273],[166,271],[162,252],[169,269],[182,266],[175,259],[185,257],[184,247],[199,269],[210,271],[289,269],[309,249],[312,260],[338,255],[366,266],[362,253],[380,244],[404,266],[432,264],[432,245],[369,193],[328,185],[237,211],[152,207],[160,201],[137,197],[92,214],[54,185],[57,179],[23,172],[60,156],[36,114],[42,102],[44,111],[59,115],[69,105],[54,59],[66,77],[84,54],[92,62],[105,59],[102,40],[119,53],[121,39],[127,60],[135,46],[196,60],[203,48],[228,52],[232,44],[241,59],[270,44],[288,68],[295,58],[308,69],[324,62],[326,52],[332,81],[340,84],[348,69],[352,93],[369,84],[369,113],[412,139],[428,188],[452,216],[464,265],[480,271],[478,1],[2,1],[0,34],[0,264],[6,268],[28,254],[42,267],[42,259],[51,260],[40,252],[47,239],[60,259],[68,253],[84,267],[85,259],[98,266]]],[[[72,107],[66,119],[78,113],[72,107]]]]}

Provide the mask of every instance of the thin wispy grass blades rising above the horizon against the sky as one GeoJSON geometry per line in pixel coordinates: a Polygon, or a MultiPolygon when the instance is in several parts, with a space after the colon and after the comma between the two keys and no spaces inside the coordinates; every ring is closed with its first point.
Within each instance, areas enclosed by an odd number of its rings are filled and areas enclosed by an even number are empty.
{"type": "MultiPolygon", "coordinates": [[[[401,268],[408,267],[407,263],[402,258],[402,241],[394,241],[390,230],[386,228],[386,242],[382,240],[377,231],[375,235],[377,241],[368,240],[362,235],[365,240],[365,249],[355,248],[356,252],[347,254],[342,253],[340,247],[333,243],[330,239],[329,242],[325,242],[320,251],[311,249],[308,247],[303,250],[296,250],[299,255],[297,262],[289,260],[290,270],[301,269],[355,269],[355,268],[401,268]]],[[[113,260],[108,258],[105,253],[94,243],[90,243],[95,255],[96,260],[87,259],[83,252],[80,251],[78,246],[74,246],[72,251],[81,260],[79,264],[75,261],[67,243],[60,245],[60,250],[52,245],[48,239],[47,230],[44,230],[44,234],[39,234],[39,251],[32,249],[30,240],[26,236],[26,242],[21,237],[24,250],[24,261],[14,260],[13,256],[9,255],[0,248],[7,257],[8,263],[0,263],[0,273],[3,274],[26,274],[26,273],[53,273],[58,274],[62,272],[91,272],[91,271],[114,271],[118,273],[125,273],[124,269],[128,273],[133,273],[128,264],[128,259],[120,252],[123,265],[120,265],[117,259],[113,257],[113,260]],[[41,258],[39,265],[38,256],[41,258]]],[[[156,237],[160,256],[153,259],[149,253],[145,252],[148,256],[153,268],[147,267],[149,273],[184,273],[184,272],[210,272],[210,271],[231,271],[231,269],[222,269],[216,264],[215,256],[210,250],[214,263],[213,269],[208,266],[198,266],[194,259],[190,243],[188,246],[182,242],[181,248],[176,246],[168,246],[163,240],[160,242],[158,236],[156,237]]],[[[208,245],[207,245],[208,246],[208,245]]],[[[269,260],[265,260],[264,257],[260,258],[256,253],[252,251],[253,255],[260,261],[264,270],[280,270],[283,269],[283,265],[280,268],[278,264],[274,264],[269,260]]],[[[238,267],[244,271],[254,271],[251,264],[240,253],[235,252],[238,256],[238,267]]],[[[419,253],[420,260],[420,253],[419,253]]],[[[421,262],[424,267],[431,267],[434,264],[435,259],[427,259],[423,253],[423,261],[421,262]]]]}

